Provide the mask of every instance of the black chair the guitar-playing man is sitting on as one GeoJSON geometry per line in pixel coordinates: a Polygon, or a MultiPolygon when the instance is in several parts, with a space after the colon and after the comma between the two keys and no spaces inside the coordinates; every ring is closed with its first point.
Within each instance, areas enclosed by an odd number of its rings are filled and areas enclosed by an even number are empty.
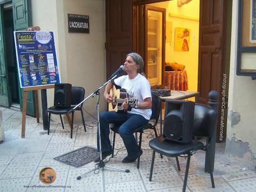
{"type": "MultiPolygon", "coordinates": [[[[161,99],[160,97],[156,96],[156,95],[152,95],[152,115],[150,120],[154,120],[154,124],[151,124],[150,122],[148,122],[146,125],[139,127],[138,129],[135,130],[135,132],[139,132],[140,133],[140,141],[139,141],[139,149],[141,149],[141,141],[142,141],[142,133],[144,130],[146,129],[152,129],[155,132],[155,136],[157,137],[157,132],[156,132],[156,125],[159,119],[159,115],[160,115],[160,110],[161,110],[161,99]]],[[[112,127],[110,127],[110,129],[114,132],[114,136],[113,136],[113,150],[112,150],[112,157],[114,156],[114,150],[115,150],[115,139],[116,139],[116,133],[118,133],[118,129],[119,126],[114,125],[112,127]]],[[[163,156],[161,156],[163,157],[163,156]]],[[[137,169],[140,168],[140,156],[137,159],[137,169]]]]}

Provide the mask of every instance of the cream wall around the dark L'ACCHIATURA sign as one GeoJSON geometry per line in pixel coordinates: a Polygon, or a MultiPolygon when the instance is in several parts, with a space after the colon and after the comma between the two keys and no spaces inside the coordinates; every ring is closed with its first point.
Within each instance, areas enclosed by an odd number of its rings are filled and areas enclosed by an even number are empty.
{"type": "MultiPolygon", "coordinates": [[[[68,82],[82,86],[86,95],[96,90],[106,80],[105,62],[105,1],[76,0],[64,1],[64,23],[66,41],[66,62],[68,82]],[[89,16],[90,33],[68,33],[67,13],[89,16]]],[[[104,88],[102,89],[102,91],[104,88]]],[[[96,97],[84,104],[85,108],[96,115],[96,97]]],[[[101,110],[105,110],[105,100],[101,94],[101,110]]]]}

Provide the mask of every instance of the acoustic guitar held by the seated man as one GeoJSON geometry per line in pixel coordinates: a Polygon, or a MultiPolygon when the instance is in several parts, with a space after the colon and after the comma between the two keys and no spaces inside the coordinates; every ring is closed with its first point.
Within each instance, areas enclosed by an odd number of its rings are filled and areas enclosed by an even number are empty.
{"type": "MultiPolygon", "coordinates": [[[[125,102],[125,99],[128,98],[127,92],[123,88],[116,89],[116,87],[113,86],[110,90],[110,95],[114,100],[109,103],[109,111],[124,112],[121,105],[123,102],[125,102]]],[[[127,99],[127,103],[131,107],[137,107],[138,100],[134,98],[127,99]]]]}

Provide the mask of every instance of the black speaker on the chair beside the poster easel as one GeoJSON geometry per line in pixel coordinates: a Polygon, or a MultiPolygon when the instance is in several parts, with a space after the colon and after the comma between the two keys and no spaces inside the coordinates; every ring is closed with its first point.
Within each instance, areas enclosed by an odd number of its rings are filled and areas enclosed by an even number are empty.
{"type": "Polygon", "coordinates": [[[71,106],[71,87],[69,83],[56,83],[54,89],[54,106],[71,106]]]}

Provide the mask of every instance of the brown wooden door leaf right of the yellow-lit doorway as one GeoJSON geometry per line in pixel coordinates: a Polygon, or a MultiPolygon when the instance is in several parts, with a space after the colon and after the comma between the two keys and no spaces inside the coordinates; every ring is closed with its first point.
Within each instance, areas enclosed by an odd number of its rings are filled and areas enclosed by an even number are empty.
{"type": "Polygon", "coordinates": [[[200,0],[198,101],[207,104],[211,90],[220,93],[224,70],[225,0],[200,0]]]}

